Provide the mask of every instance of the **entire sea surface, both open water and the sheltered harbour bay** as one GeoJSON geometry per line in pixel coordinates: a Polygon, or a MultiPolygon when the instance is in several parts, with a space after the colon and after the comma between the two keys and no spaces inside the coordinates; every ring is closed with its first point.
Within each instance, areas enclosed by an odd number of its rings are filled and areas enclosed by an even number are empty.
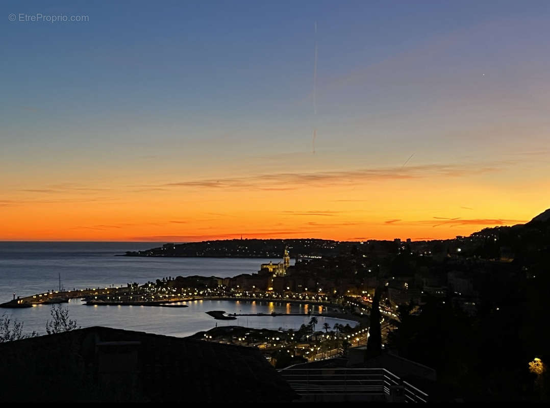
{"type": "MultiPolygon", "coordinates": [[[[255,273],[261,263],[279,262],[262,258],[157,258],[125,257],[126,251],[146,250],[163,242],[6,242],[0,241],[0,303],[16,296],[46,293],[48,290],[107,288],[126,286],[129,282],[143,284],[163,277],[216,276],[234,277],[255,273]]],[[[196,300],[182,302],[189,307],[86,306],[72,299],[69,318],[80,327],[106,326],[156,334],[187,337],[216,326],[244,326],[267,329],[298,329],[308,323],[307,316],[241,316],[237,320],[218,321],[206,312],[227,313],[315,313],[327,312],[326,307],[289,304],[286,302],[196,300]]],[[[51,318],[51,305],[20,309],[2,309],[0,313],[12,322],[22,322],[23,332],[46,333],[51,318]]],[[[318,317],[318,327],[328,323],[355,322],[331,317],[318,317]]]]}

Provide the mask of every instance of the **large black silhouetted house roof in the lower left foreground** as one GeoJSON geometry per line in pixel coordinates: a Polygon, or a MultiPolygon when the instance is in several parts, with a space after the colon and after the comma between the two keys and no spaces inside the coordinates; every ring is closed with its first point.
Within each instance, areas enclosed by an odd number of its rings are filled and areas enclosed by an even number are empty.
{"type": "Polygon", "coordinates": [[[107,327],[0,344],[0,373],[3,401],[298,398],[257,349],[107,327]]]}

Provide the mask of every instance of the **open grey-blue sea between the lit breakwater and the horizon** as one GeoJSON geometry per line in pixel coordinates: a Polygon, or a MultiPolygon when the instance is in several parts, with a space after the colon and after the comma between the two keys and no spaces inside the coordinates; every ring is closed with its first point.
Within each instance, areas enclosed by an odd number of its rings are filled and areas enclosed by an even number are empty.
{"type": "Polygon", "coordinates": [[[0,242],[0,302],[12,293],[29,296],[57,290],[144,284],[163,277],[220,278],[256,273],[267,258],[162,258],[116,256],[160,246],[158,242],[0,242]]]}

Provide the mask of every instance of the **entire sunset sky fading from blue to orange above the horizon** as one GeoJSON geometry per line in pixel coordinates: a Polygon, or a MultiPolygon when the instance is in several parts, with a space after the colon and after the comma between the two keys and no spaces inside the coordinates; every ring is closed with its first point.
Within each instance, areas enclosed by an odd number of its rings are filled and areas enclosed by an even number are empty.
{"type": "Polygon", "coordinates": [[[550,207],[548,1],[51,3],[0,5],[0,240],[454,238],[550,207]]]}

